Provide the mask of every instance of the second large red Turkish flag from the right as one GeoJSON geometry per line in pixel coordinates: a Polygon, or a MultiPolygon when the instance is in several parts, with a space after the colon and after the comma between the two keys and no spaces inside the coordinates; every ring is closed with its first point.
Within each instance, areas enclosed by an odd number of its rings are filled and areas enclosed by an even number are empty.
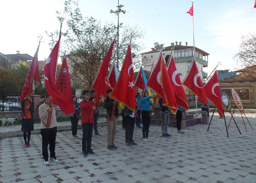
{"type": "Polygon", "coordinates": [[[200,102],[203,103],[204,106],[209,108],[209,104],[203,88],[203,83],[200,74],[198,72],[198,68],[196,66],[196,62],[193,60],[191,64],[192,67],[188,75],[186,75],[186,78],[183,81],[183,85],[191,89],[194,92],[194,94],[198,96],[198,100],[200,100],[200,102]]]}

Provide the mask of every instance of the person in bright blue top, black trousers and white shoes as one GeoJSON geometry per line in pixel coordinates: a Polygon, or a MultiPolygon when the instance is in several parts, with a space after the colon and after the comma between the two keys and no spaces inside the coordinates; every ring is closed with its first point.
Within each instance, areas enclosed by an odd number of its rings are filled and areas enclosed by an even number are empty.
{"type": "MultiPolygon", "coordinates": [[[[155,98],[155,95],[153,95],[155,98]]],[[[150,106],[153,106],[153,103],[149,101],[152,96],[148,96],[148,92],[144,92],[144,96],[141,98],[141,119],[143,123],[142,128],[142,135],[143,135],[143,141],[145,142],[151,142],[152,140],[148,138],[149,135],[149,124],[151,119],[151,108],[150,106]]]]}

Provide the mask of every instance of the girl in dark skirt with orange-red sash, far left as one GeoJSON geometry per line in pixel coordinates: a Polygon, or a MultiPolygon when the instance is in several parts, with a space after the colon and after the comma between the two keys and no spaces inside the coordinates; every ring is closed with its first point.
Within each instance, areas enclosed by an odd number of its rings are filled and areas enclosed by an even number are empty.
{"type": "Polygon", "coordinates": [[[31,102],[30,96],[25,97],[21,101],[21,131],[23,132],[24,147],[31,147],[30,137],[31,131],[34,130],[34,103],[31,102]],[[28,138],[28,140],[27,140],[28,138]]]}

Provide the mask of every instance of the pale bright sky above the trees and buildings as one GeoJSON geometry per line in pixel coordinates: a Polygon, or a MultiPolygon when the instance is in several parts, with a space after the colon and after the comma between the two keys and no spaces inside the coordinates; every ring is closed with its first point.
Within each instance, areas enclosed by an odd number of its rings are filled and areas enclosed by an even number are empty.
{"type": "MultiPolygon", "coordinates": [[[[151,51],[154,42],[170,46],[175,41],[188,42],[193,46],[192,16],[186,11],[190,0],[119,0],[126,10],[120,13],[120,23],[137,25],[145,30],[141,53],[151,51]]],[[[118,0],[80,0],[79,8],[84,17],[94,17],[117,24],[118,0]]],[[[233,56],[239,51],[241,37],[256,30],[254,0],[194,0],[195,46],[209,53],[208,68],[211,73],[218,62],[217,70],[235,70],[233,56]]],[[[56,11],[62,12],[64,0],[8,0],[1,1],[0,53],[27,53],[34,56],[39,35],[42,42],[39,60],[50,54],[50,39],[45,34],[60,28],[56,11]]],[[[63,26],[65,31],[65,25],[63,26]]],[[[57,40],[56,40],[57,41],[57,40]]]]}

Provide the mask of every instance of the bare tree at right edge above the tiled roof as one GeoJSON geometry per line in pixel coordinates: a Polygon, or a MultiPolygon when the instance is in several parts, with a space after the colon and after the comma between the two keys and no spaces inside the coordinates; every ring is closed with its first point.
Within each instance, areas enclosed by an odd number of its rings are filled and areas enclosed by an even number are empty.
{"type": "Polygon", "coordinates": [[[233,57],[237,60],[237,69],[256,65],[256,35],[249,33],[241,37],[240,49],[233,57]]]}

